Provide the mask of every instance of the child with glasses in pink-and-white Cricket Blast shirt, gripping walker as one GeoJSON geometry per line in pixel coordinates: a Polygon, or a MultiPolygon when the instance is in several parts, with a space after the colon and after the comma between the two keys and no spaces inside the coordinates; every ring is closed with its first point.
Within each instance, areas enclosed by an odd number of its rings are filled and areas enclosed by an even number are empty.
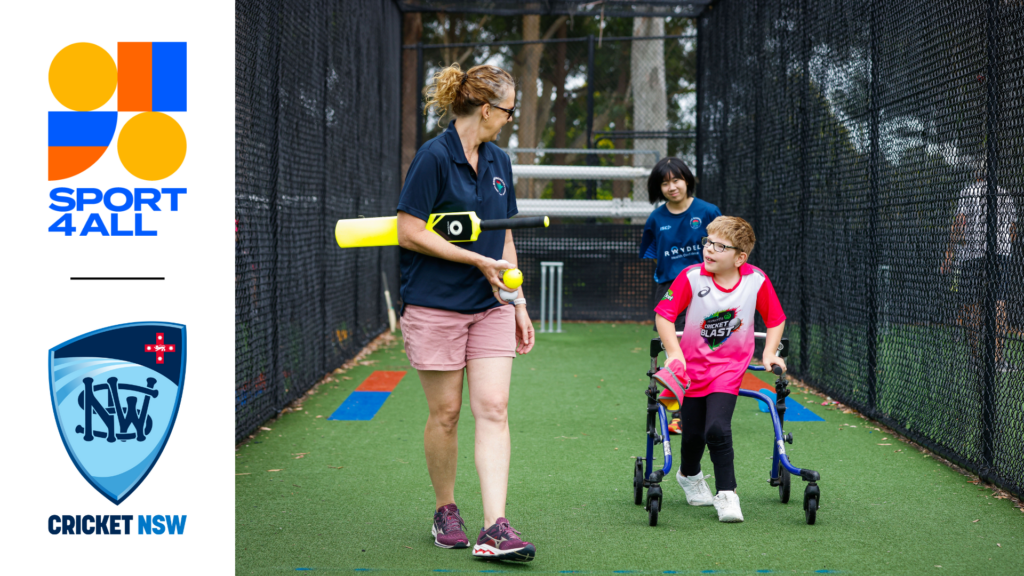
{"type": "Polygon", "coordinates": [[[768,276],[746,263],[754,250],[754,229],[742,218],[719,216],[708,225],[703,263],[684,270],[654,308],[665,344],[666,367],[654,378],[681,402],[682,463],[676,480],[695,506],[713,505],[722,522],[742,522],[733,468],[732,412],[743,372],[754,358],[754,313],[768,327],[763,363],[785,369],[774,351],[782,339],[785,315],[768,276]],[[686,311],[683,336],[676,317],[686,311]],[[705,446],[715,465],[711,489],[700,471],[705,446]]]}

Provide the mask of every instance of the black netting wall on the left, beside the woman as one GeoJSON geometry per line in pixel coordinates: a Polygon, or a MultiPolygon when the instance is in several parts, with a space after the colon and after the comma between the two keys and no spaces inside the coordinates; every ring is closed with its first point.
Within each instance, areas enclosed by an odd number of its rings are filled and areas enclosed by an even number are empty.
{"type": "Polygon", "coordinates": [[[236,8],[236,439],[387,327],[397,248],[339,218],[394,213],[400,13],[379,0],[236,8]]]}

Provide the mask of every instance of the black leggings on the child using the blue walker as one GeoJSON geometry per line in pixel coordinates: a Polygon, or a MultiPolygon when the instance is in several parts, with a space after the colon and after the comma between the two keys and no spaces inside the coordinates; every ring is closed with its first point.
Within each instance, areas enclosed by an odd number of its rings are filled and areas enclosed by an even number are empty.
{"type": "Polygon", "coordinates": [[[732,465],[732,411],[736,395],[712,393],[701,398],[685,398],[682,413],[683,448],[680,450],[683,476],[700,471],[705,445],[715,464],[715,488],[736,489],[736,470],[732,465]]]}

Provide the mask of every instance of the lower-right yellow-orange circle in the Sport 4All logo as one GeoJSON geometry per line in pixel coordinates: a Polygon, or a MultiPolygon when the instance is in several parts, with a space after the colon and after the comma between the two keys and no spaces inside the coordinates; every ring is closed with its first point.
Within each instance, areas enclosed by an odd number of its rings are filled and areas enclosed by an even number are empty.
{"type": "Polygon", "coordinates": [[[166,114],[143,112],[121,128],[118,157],[136,178],[162,180],[185,160],[185,132],[166,114]]]}

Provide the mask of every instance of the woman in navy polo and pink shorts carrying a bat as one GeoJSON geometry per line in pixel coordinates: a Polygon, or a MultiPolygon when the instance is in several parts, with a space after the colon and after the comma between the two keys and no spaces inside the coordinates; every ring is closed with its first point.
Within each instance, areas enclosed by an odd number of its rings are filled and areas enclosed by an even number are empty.
{"type": "Polygon", "coordinates": [[[512,121],[515,82],[497,67],[464,73],[452,65],[434,75],[426,95],[427,109],[443,116],[451,107],[456,119],[416,153],[397,210],[401,328],[430,408],[423,444],[436,498],[434,543],[443,548],[469,545],[455,504],[465,369],[483,497],[484,528],[473,556],[530,561],[535,546],[522,541],[505,519],[512,360],[516,352],[534,347],[534,325],[521,290],[514,306],[496,293],[507,290],[502,271],[517,265],[512,232],[483,232],[476,242],[457,246],[426,230],[432,213],[473,211],[481,219],[496,219],[518,212],[511,162],[492,143],[512,121]]]}

